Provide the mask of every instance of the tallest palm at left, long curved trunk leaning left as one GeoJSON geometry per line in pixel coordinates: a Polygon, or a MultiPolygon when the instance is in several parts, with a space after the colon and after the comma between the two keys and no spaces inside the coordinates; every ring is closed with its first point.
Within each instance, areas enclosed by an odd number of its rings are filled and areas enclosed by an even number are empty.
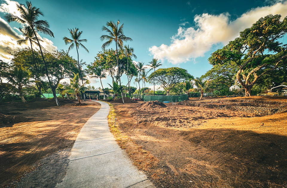
{"type": "MultiPolygon", "coordinates": [[[[33,31],[34,36],[36,38],[37,44],[39,46],[43,62],[45,64],[45,72],[46,72],[50,87],[53,88],[53,84],[52,84],[52,81],[51,81],[51,79],[49,77],[49,73],[48,73],[47,63],[45,61],[45,58],[44,58],[44,55],[42,52],[42,46],[40,44],[39,38],[36,34],[36,31],[44,33],[44,34],[52,36],[52,37],[54,37],[54,33],[49,29],[49,24],[47,21],[38,19],[39,16],[44,16],[44,15],[40,11],[39,8],[32,7],[31,2],[26,1],[26,5],[16,3],[16,7],[17,7],[17,10],[20,12],[21,16],[18,17],[16,15],[8,13],[5,15],[5,18],[7,19],[8,23],[10,23],[12,21],[16,21],[18,23],[25,24],[31,28],[31,30],[33,31]]],[[[52,89],[52,92],[53,92],[53,96],[55,98],[55,101],[57,103],[57,106],[60,106],[58,99],[57,99],[56,90],[52,89]]]]}

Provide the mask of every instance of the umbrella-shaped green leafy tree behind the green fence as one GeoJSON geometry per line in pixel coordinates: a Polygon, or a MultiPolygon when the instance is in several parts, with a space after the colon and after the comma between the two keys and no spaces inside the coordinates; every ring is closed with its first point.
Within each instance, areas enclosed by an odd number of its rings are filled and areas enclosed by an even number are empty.
{"type": "Polygon", "coordinates": [[[176,83],[183,82],[187,79],[192,79],[193,76],[187,73],[187,70],[179,67],[171,67],[166,69],[158,69],[148,77],[149,83],[155,79],[155,84],[161,85],[170,94],[170,90],[175,86],[176,83]]]}

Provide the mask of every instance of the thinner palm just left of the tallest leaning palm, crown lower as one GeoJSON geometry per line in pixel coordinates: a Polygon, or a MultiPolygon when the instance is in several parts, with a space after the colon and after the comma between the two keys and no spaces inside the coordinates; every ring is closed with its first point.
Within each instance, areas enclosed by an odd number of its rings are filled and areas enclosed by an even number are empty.
{"type": "MultiPolygon", "coordinates": [[[[27,44],[28,41],[30,42],[30,45],[31,45],[31,51],[32,51],[32,56],[33,56],[33,63],[34,63],[34,66],[35,66],[35,80],[37,81],[38,80],[38,68],[37,68],[37,65],[36,65],[36,62],[35,62],[35,55],[34,55],[34,50],[33,50],[33,45],[32,44],[36,44],[37,45],[37,42],[36,42],[36,37],[31,29],[31,27],[27,26],[27,27],[24,27],[24,28],[19,28],[19,30],[21,31],[22,35],[25,37],[24,39],[22,40],[18,40],[17,41],[17,44],[18,45],[23,45],[23,44],[27,44]]],[[[42,39],[38,39],[39,41],[43,42],[42,39]]],[[[36,82],[36,87],[39,91],[39,93],[43,96],[43,98],[46,98],[45,95],[43,95],[40,87],[38,86],[38,83],[36,82]]]]}

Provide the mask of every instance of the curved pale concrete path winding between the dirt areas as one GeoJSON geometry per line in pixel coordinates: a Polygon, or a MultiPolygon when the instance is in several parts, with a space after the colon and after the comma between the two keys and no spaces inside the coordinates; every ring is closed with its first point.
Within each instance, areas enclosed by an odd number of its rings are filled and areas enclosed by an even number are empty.
{"type": "Polygon", "coordinates": [[[101,108],[81,129],[69,157],[68,171],[57,188],[155,188],[132,164],[109,131],[109,104],[101,108]]]}

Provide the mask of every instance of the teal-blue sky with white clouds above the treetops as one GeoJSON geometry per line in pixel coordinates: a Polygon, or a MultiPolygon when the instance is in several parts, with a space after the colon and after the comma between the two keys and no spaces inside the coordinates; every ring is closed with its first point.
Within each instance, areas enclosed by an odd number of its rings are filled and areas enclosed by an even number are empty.
{"type": "MultiPolygon", "coordinates": [[[[25,3],[25,1],[17,1],[25,3]]],[[[4,15],[13,11],[14,1],[0,0],[0,23],[4,22],[4,15]]],[[[117,21],[124,24],[124,34],[133,39],[128,42],[135,49],[138,57],[135,61],[148,64],[153,57],[159,58],[163,66],[181,67],[200,77],[208,70],[208,57],[218,48],[222,48],[228,41],[233,40],[239,31],[250,27],[260,17],[270,13],[287,15],[286,1],[31,1],[33,6],[40,8],[50,24],[55,38],[40,34],[47,38],[47,48],[68,50],[63,37],[70,38],[68,29],[77,27],[83,31],[82,39],[90,53],[80,49],[80,59],[91,63],[97,52],[102,50],[100,36],[107,21],[117,21]],[[68,2],[68,3],[67,3],[68,2]]],[[[7,24],[7,23],[4,23],[7,24]]],[[[17,23],[9,23],[14,32],[20,34],[13,27],[20,27],[17,23]]],[[[12,31],[13,32],[13,31],[12,31]]],[[[3,30],[0,29],[0,50],[3,43],[3,30]],[[2,34],[2,35],[1,35],[2,34]],[[2,36],[2,38],[1,38],[2,36]],[[1,43],[2,40],[2,43],[1,43]]],[[[9,34],[7,34],[9,35],[9,34]]],[[[13,35],[10,40],[13,41],[13,35]]],[[[15,37],[14,37],[15,38],[15,37]]],[[[13,45],[11,45],[13,46],[13,45]]],[[[115,44],[111,44],[115,49],[115,44]]],[[[11,50],[19,48],[14,46],[11,50]]],[[[7,50],[6,50],[7,51],[7,50]]],[[[1,51],[0,51],[1,53],[1,51]]],[[[4,51],[2,52],[4,53],[4,51]]],[[[70,55],[77,59],[76,50],[70,55]]],[[[7,57],[7,56],[5,56],[7,57]]],[[[0,59],[7,61],[3,56],[0,59]]],[[[126,76],[123,76],[123,84],[126,76]]],[[[111,78],[103,81],[111,83],[111,78]]],[[[98,80],[91,80],[91,85],[100,87],[98,80]]],[[[104,87],[105,87],[104,86],[104,87]]]]}

